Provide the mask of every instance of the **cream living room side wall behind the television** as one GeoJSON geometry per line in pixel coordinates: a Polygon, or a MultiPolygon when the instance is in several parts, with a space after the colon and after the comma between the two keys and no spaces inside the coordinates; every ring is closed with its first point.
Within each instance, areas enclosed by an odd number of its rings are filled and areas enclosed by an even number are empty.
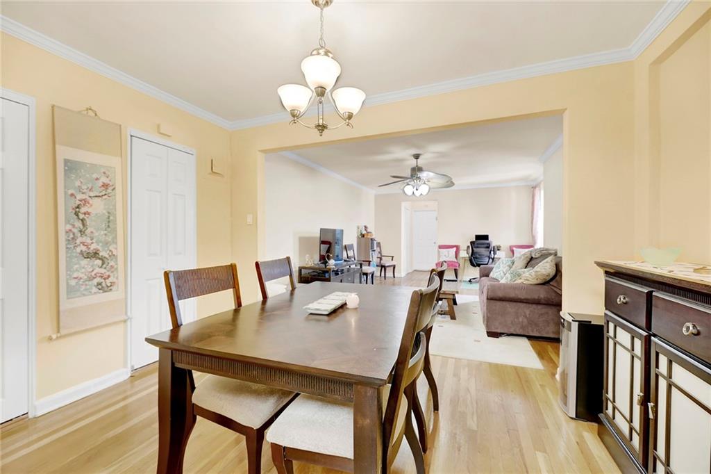
{"type": "Polygon", "coordinates": [[[264,159],[265,258],[291,256],[294,265],[319,255],[319,229],[342,228],[343,243],[355,244],[356,226],[373,227],[372,191],[314,168],[268,154],[264,159]]]}

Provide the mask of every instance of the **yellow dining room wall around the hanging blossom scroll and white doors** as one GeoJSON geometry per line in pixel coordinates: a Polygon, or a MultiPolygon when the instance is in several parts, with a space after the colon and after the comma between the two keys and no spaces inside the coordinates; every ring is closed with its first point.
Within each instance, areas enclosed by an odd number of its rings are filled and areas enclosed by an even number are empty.
{"type": "MultiPolygon", "coordinates": [[[[166,123],[174,130],[169,139],[196,149],[198,263],[201,265],[230,260],[230,177],[208,174],[210,158],[229,159],[230,135],[227,130],[4,33],[1,53],[2,87],[31,95],[37,107],[36,398],[42,399],[127,367],[127,325],[124,322],[66,335],[51,342],[47,339],[48,335],[58,332],[59,291],[52,105],[73,110],[90,105],[103,119],[122,125],[124,183],[127,183],[126,133],[129,127],[157,135],[156,126],[166,123]]],[[[201,314],[210,312],[214,304],[201,304],[201,314]]]]}

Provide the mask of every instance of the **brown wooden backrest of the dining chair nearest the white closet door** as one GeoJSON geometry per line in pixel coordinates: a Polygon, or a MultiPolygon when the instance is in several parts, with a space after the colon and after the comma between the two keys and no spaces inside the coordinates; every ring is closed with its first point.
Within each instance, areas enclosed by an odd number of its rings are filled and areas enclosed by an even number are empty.
{"type": "Polygon", "coordinates": [[[173,329],[183,325],[179,305],[182,300],[232,290],[235,308],[242,306],[236,263],[219,267],[166,270],[163,276],[173,329]]]}

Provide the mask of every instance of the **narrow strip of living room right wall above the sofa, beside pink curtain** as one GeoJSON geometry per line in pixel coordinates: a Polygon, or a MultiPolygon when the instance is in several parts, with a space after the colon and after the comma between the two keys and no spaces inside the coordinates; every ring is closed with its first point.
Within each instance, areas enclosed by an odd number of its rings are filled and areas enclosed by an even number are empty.
{"type": "Polygon", "coordinates": [[[543,245],[563,252],[563,151],[543,164],[543,245]]]}

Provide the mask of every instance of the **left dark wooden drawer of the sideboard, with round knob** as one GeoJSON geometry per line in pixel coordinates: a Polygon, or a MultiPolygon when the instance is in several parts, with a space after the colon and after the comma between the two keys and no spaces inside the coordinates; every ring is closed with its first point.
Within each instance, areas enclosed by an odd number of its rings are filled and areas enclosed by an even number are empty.
{"type": "Polygon", "coordinates": [[[652,290],[634,283],[605,278],[605,309],[637,327],[649,330],[649,298],[652,290]]]}

